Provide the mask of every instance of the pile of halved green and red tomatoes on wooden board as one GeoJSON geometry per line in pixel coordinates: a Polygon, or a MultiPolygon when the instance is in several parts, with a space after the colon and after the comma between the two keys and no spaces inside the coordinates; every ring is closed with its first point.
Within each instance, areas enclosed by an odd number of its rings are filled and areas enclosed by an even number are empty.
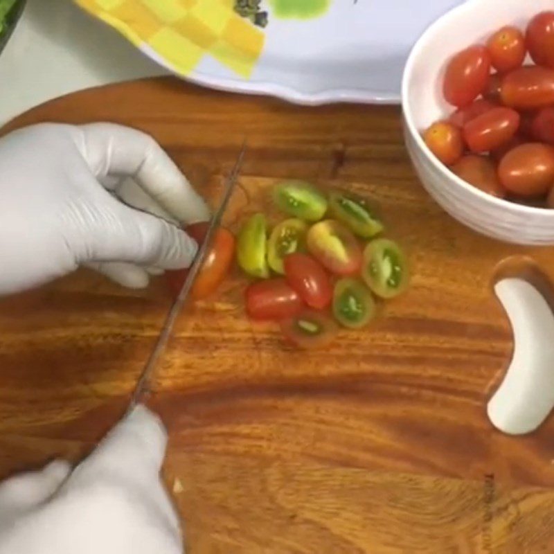
{"type": "Polygon", "coordinates": [[[327,345],[339,325],[358,329],[375,316],[375,296],[406,289],[400,247],[375,238],[384,229],[365,199],[305,181],[283,181],[274,202],[287,219],[269,232],[264,214],[251,215],[237,238],[237,261],[256,278],[246,290],[248,316],[278,321],[301,348],[327,345]]]}

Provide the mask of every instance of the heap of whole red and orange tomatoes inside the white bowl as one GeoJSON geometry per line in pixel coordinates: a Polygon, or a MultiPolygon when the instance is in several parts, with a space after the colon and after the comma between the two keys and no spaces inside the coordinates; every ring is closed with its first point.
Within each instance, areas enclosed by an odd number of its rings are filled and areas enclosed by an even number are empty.
{"type": "Polygon", "coordinates": [[[553,208],[554,11],[454,55],[443,95],[456,111],[423,134],[436,157],[486,193],[553,208]]]}

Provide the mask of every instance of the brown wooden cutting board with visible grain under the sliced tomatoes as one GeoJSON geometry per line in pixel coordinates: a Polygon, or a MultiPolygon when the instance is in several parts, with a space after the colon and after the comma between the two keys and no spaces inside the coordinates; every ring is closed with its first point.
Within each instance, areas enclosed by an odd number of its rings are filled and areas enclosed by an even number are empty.
{"type": "MultiPolygon", "coordinates": [[[[372,198],[409,253],[409,292],[323,352],[251,324],[238,272],[181,316],[148,402],[170,429],[189,554],[554,551],[554,418],[511,438],[485,415],[512,352],[496,268],[526,256],[554,278],[554,250],[445,215],[410,166],[400,110],[159,79],[60,98],[8,129],[52,120],[143,129],[211,199],[246,135],[232,229],[269,209],[276,179],[301,177],[372,198]]],[[[168,306],[161,282],[129,292],[84,271],[0,303],[1,476],[92,447],[123,413],[168,306]]]]}

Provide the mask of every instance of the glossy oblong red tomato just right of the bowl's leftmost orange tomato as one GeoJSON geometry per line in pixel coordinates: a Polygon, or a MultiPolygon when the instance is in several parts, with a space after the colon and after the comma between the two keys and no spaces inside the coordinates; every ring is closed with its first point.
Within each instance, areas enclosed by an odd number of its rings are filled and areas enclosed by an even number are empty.
{"type": "Polygon", "coordinates": [[[507,143],[519,127],[514,109],[497,107],[477,116],[463,127],[465,143],[472,152],[490,152],[507,143]]]}

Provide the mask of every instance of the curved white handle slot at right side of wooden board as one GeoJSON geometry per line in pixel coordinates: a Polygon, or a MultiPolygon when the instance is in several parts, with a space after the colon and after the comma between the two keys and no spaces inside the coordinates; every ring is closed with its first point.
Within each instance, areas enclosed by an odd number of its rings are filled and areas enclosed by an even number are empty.
{"type": "Polygon", "coordinates": [[[512,325],[514,355],[487,413],[504,433],[526,434],[554,407],[554,314],[542,294],[524,280],[503,279],[494,292],[512,325]]]}

